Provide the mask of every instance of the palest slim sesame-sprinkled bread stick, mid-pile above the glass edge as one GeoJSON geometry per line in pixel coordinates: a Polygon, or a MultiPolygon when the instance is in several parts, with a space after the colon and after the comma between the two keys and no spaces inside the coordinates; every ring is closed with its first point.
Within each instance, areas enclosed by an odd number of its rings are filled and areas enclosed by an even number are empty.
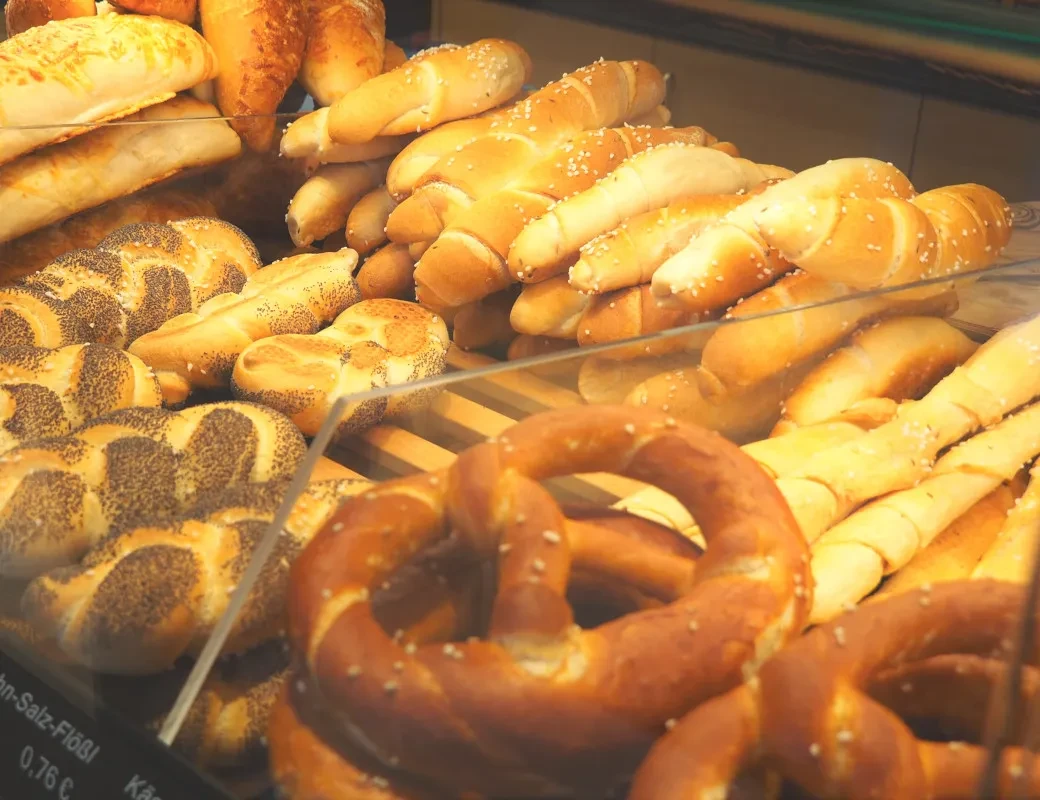
{"type": "Polygon", "coordinates": [[[680,198],[747,191],[789,175],[721,150],[662,145],[632,156],[592,188],[531,221],[510,248],[510,270],[525,283],[544,281],[573,263],[581,246],[630,216],[680,198]]]}

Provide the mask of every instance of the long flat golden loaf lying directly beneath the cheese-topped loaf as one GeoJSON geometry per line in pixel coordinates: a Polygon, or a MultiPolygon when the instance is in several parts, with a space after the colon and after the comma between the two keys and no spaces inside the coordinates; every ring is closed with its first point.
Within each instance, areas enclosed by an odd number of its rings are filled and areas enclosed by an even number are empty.
{"type": "Polygon", "coordinates": [[[0,167],[0,243],[233,158],[241,143],[228,124],[197,119],[216,115],[212,106],[179,96],[128,121],[152,124],[108,126],[0,167]]]}

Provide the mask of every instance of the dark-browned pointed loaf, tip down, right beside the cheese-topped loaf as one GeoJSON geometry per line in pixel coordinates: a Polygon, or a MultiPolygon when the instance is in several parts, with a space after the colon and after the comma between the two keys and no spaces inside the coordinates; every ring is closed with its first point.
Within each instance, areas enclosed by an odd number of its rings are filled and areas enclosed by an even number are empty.
{"type": "Polygon", "coordinates": [[[275,138],[279,103],[300,71],[307,43],[305,0],[201,0],[206,41],[220,64],[216,104],[253,150],[275,138]]]}

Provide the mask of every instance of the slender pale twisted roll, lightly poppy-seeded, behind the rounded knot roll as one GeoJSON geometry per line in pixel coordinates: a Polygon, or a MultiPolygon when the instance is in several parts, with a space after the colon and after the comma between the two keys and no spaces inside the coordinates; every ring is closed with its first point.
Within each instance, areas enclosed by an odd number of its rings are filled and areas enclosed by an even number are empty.
{"type": "Polygon", "coordinates": [[[226,387],[235,361],[254,342],[315,333],[361,300],[357,263],[357,253],[345,248],[283,259],[256,273],[240,292],[218,294],[136,339],[130,352],[156,371],[167,401],[226,387]]]}

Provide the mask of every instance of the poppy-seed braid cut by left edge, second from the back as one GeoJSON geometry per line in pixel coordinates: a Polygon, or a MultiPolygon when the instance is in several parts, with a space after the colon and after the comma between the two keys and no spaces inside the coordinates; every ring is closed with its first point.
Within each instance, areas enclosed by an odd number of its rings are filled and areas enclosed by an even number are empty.
{"type": "Polygon", "coordinates": [[[0,347],[0,453],[110,411],[160,405],[148,365],[106,344],[0,347]]]}

